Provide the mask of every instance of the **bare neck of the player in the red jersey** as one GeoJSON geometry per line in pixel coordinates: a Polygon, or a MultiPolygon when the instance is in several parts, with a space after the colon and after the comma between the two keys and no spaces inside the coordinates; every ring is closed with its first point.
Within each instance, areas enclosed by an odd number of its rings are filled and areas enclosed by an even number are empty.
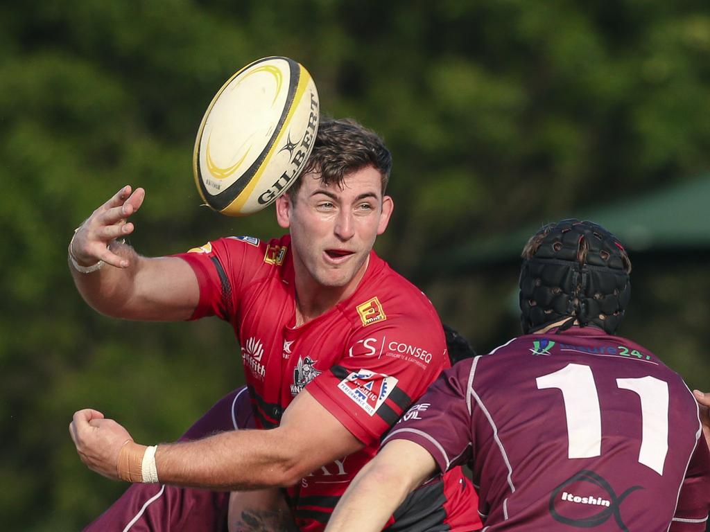
{"type": "Polygon", "coordinates": [[[360,281],[362,280],[370,257],[360,267],[355,276],[342,287],[328,287],[313,279],[305,267],[298,261],[294,261],[295,269],[295,292],[296,292],[296,326],[301,326],[322,316],[341,301],[345,301],[354,294],[360,281]]]}

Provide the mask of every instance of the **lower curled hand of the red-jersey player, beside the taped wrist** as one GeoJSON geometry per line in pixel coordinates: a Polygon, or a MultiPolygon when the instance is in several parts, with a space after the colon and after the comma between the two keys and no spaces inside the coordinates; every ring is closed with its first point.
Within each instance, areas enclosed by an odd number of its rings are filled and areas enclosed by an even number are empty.
{"type": "Polygon", "coordinates": [[[74,414],[69,433],[84,465],[90,470],[118,480],[119,451],[131,435],[113,419],[94,409],[83,409],[74,414]]]}

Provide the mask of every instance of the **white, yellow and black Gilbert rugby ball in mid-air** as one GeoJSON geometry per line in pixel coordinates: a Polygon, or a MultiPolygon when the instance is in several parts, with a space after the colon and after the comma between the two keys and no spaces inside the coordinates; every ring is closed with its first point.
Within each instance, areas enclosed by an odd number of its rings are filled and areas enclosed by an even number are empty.
{"type": "Polygon", "coordinates": [[[228,216],[272,204],[305,166],[318,118],[318,92],[300,63],[265,57],[236,72],[195,140],[192,170],[204,202],[228,216]]]}

